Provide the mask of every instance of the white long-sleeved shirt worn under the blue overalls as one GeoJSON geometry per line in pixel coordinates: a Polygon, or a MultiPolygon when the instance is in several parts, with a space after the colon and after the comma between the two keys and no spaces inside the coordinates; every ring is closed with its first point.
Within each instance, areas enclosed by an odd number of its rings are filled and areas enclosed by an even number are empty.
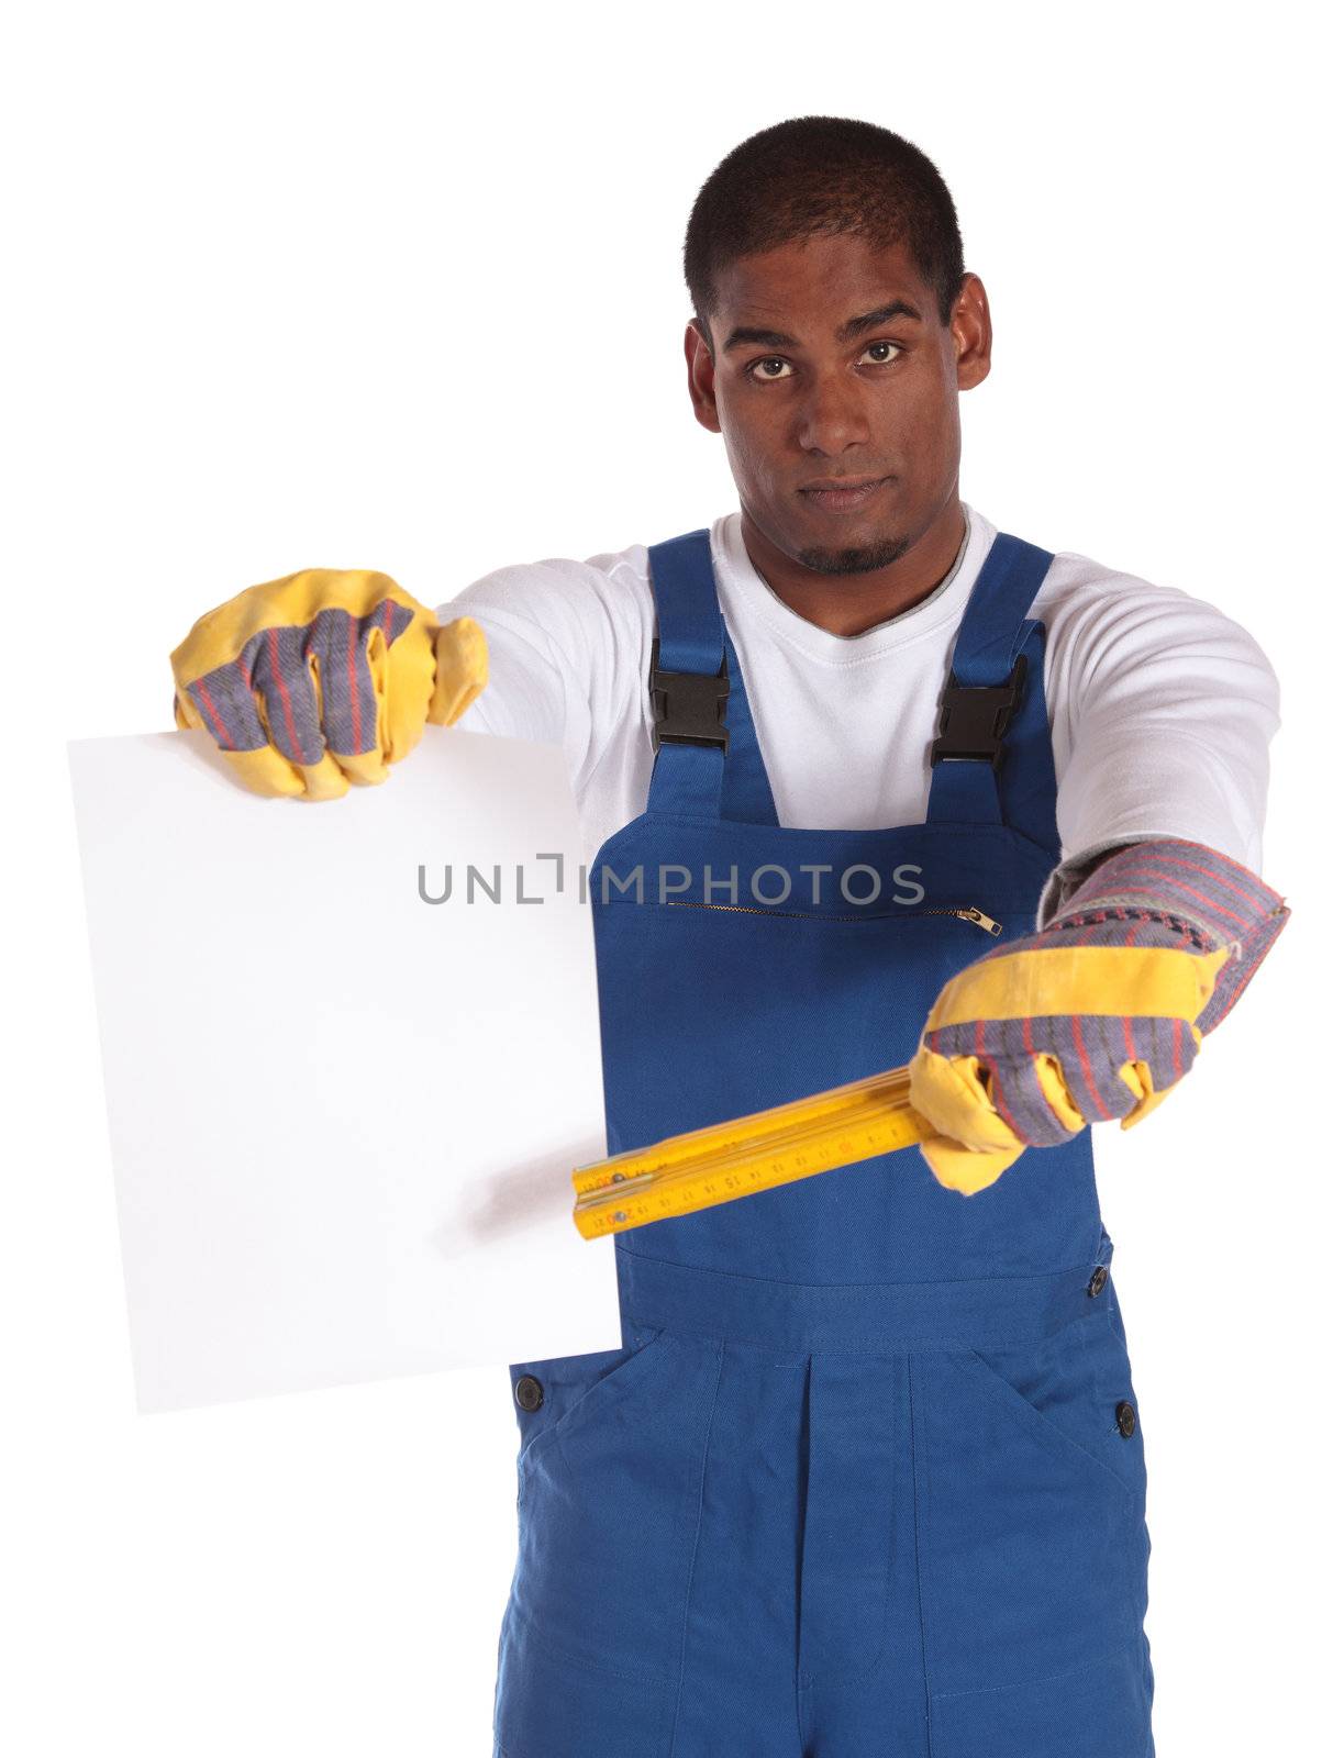
{"type": "MultiPolygon", "coordinates": [[[[967,534],[948,577],[862,635],[821,629],[772,591],[746,552],[739,510],[712,522],[717,598],[781,825],[925,819],[939,694],[997,533],[964,510],[967,534]]],[[[647,805],[647,547],[496,568],[438,615],[475,617],[491,652],[491,680],[457,726],[565,747],[591,861],[647,805]]],[[[1280,723],[1278,684],[1256,640],[1203,599],[1069,550],[1055,556],[1029,615],[1046,626],[1062,846],[1039,921],[1083,860],[1120,842],[1182,837],[1259,872],[1280,723]]]]}

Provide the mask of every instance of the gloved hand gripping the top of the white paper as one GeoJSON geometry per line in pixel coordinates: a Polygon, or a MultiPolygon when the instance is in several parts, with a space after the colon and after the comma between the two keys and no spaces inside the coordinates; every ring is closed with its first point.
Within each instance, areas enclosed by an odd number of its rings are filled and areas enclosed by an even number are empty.
{"type": "Polygon", "coordinates": [[[426,723],[487,682],[480,624],[443,628],[369,570],[304,568],[195,622],[171,656],[176,724],[202,726],[253,793],[332,800],[387,781],[426,723]]]}

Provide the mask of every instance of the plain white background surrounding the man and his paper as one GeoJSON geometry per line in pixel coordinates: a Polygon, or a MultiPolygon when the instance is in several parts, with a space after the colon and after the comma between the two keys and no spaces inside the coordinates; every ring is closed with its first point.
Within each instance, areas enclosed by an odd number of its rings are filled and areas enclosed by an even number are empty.
{"type": "Polygon", "coordinates": [[[438,601],[735,505],[686,397],[681,241],[716,162],[802,113],[897,128],[953,190],[995,322],[965,498],[1213,601],[1282,679],[1264,874],[1293,925],[1187,1088],[1099,1137],[1159,1753],[1324,1737],[1329,262],[1301,16],[11,14],[9,1749],[491,1751],[505,1373],[134,1413],[63,744],[171,726],[169,649],[257,580],[380,568],[438,601]]]}

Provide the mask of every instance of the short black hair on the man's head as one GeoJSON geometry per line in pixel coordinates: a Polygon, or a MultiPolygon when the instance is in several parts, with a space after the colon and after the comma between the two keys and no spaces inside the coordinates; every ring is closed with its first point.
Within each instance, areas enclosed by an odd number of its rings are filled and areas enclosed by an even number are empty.
{"type": "Polygon", "coordinates": [[[695,197],[684,271],[709,352],[717,274],[793,239],[856,232],[878,250],[907,241],[948,323],[962,290],[953,197],[925,153],[892,128],[849,116],[793,116],[732,148],[695,197]]]}

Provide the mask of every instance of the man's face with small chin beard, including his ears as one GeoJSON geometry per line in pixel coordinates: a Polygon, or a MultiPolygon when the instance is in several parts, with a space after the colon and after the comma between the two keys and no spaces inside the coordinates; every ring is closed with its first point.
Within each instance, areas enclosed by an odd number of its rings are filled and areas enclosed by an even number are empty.
{"type": "Polygon", "coordinates": [[[774,548],[818,573],[869,573],[957,499],[958,390],[990,371],[976,276],[944,325],[906,243],[816,237],[725,269],[710,329],[716,359],[686,331],[695,413],[721,432],[774,548]]]}

